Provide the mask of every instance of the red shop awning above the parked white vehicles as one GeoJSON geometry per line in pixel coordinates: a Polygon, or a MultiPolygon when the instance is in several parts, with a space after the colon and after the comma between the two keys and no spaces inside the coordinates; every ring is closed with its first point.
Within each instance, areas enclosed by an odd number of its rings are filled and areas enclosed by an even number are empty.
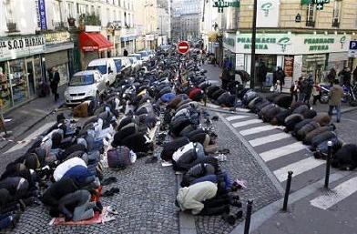
{"type": "Polygon", "coordinates": [[[100,33],[86,32],[79,34],[79,46],[83,51],[103,51],[113,48],[107,38],[100,33]]]}

